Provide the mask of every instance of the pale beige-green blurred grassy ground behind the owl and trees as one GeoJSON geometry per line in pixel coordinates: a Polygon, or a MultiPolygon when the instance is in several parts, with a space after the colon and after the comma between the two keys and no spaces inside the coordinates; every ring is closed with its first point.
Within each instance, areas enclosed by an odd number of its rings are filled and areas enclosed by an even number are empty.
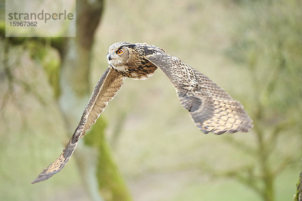
{"type": "MultiPolygon", "coordinates": [[[[247,65],[225,56],[231,45],[230,29],[239,20],[237,14],[241,13],[233,1],[107,1],[94,46],[91,82],[96,83],[106,69],[105,55],[112,43],[147,42],[207,75],[240,100],[249,113],[253,105],[246,103],[253,91],[249,90],[247,65]]],[[[65,135],[64,125],[43,70],[28,59],[22,48],[12,50],[12,65],[14,52],[23,58],[15,68],[17,74],[31,77],[31,85],[43,94],[46,103],[41,105],[27,95],[31,93],[17,87],[15,95],[22,104],[16,107],[10,99],[2,111],[0,199],[89,200],[72,158],[50,180],[30,184],[57,157],[68,139],[61,142],[58,138],[65,135]]],[[[211,178],[205,171],[208,167],[223,171],[255,163],[255,159],[227,143],[234,138],[254,146],[253,131],[222,136],[202,134],[160,70],[146,80],[126,79],[103,114],[108,122],[107,139],[134,200],[260,199],[250,188],[232,179],[211,178]],[[118,126],[120,132],[114,133],[118,126]],[[115,141],[114,134],[118,135],[115,141]]],[[[297,163],[277,177],[276,200],[292,199],[300,171],[299,138],[288,136],[291,138],[281,139],[280,152],[294,155],[297,163]]]]}

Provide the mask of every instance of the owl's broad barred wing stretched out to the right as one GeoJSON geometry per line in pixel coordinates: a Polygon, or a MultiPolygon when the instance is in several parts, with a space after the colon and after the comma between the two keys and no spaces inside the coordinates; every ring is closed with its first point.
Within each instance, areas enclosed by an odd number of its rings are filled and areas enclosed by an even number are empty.
{"type": "Polygon", "coordinates": [[[252,120],[237,100],[179,58],[149,49],[146,59],[166,74],[181,105],[204,133],[247,132],[253,127],[252,120]]]}

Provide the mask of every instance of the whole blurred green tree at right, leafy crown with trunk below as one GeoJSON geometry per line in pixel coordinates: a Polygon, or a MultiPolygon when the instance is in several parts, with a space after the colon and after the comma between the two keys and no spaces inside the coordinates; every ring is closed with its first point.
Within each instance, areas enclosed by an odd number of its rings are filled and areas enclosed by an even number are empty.
{"type": "Polygon", "coordinates": [[[233,46],[226,55],[249,68],[253,87],[251,118],[257,139],[255,156],[259,161],[253,167],[259,170],[253,170],[244,180],[259,177],[261,188],[259,184],[246,184],[263,200],[275,200],[276,177],[295,160],[293,156],[278,153],[276,142],[281,134],[296,132],[294,128],[299,127],[302,111],[302,88],[297,84],[302,81],[302,3],[257,1],[242,4],[239,9],[241,15],[234,26],[233,46]],[[272,166],[270,161],[276,156],[278,162],[272,166]]]}

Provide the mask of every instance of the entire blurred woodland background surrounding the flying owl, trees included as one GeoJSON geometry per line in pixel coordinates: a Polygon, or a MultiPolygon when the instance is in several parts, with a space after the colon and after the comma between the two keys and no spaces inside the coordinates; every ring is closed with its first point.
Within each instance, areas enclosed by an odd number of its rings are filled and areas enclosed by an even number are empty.
{"type": "Polygon", "coordinates": [[[293,200],[301,1],[78,1],[75,38],[5,38],[4,5],[1,200],[293,200]],[[239,100],[254,128],[204,135],[157,70],[127,78],[67,165],[31,184],[68,142],[118,41],[179,57],[239,100]]]}

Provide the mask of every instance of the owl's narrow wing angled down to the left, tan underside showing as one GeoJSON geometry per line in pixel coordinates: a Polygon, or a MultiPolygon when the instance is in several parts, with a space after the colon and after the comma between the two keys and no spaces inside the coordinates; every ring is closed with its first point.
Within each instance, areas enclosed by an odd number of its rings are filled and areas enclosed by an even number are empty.
{"type": "Polygon", "coordinates": [[[111,66],[109,66],[105,73],[101,76],[100,80],[96,84],[93,93],[86,105],[83,112],[81,121],[75,129],[72,137],[67,143],[66,147],[59,157],[51,163],[46,169],[39,174],[39,176],[32,181],[36,183],[44,181],[59,172],[67,163],[74,149],[77,147],[80,137],[85,135],[85,132],[90,129],[91,125],[96,122],[100,114],[104,111],[109,100],[111,100],[117,93],[117,91],[123,85],[124,76],[116,72],[111,66]]]}

